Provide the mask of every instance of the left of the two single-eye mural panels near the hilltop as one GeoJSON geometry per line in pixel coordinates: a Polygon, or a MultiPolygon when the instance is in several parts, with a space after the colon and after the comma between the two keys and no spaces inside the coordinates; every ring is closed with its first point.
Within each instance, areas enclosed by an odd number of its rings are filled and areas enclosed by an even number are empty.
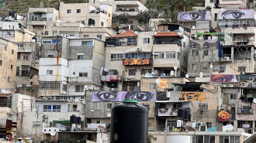
{"type": "Polygon", "coordinates": [[[209,11],[178,12],[178,21],[209,20],[209,11]]]}

